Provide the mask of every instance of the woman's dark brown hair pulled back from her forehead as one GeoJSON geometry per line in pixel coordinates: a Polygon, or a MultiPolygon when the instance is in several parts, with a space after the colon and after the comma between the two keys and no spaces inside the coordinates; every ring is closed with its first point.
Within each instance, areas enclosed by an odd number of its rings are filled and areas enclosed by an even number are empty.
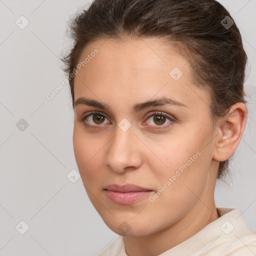
{"type": "MultiPolygon", "coordinates": [[[[72,104],[73,70],[88,43],[142,37],[165,38],[185,55],[194,82],[211,93],[214,119],[232,104],[245,103],[247,56],[241,35],[229,12],[215,0],[94,0],[69,20],[69,35],[73,45],[61,59],[72,104]]],[[[220,162],[217,178],[223,176],[227,165],[228,159],[220,162]]]]}

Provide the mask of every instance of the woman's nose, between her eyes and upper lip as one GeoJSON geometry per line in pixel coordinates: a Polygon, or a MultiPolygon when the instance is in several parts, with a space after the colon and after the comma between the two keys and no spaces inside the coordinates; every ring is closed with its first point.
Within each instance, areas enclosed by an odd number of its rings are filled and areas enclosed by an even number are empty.
{"type": "Polygon", "coordinates": [[[109,141],[105,164],[118,173],[128,169],[137,169],[142,163],[140,151],[142,146],[132,126],[126,131],[117,126],[112,141],[109,141]]]}

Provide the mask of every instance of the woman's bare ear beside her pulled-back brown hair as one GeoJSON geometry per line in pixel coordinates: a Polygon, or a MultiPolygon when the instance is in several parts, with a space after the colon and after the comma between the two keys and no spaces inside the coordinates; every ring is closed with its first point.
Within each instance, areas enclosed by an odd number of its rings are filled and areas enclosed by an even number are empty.
{"type": "Polygon", "coordinates": [[[224,117],[217,121],[215,150],[212,158],[225,161],[237,148],[245,127],[247,107],[241,102],[233,104],[224,117]]]}

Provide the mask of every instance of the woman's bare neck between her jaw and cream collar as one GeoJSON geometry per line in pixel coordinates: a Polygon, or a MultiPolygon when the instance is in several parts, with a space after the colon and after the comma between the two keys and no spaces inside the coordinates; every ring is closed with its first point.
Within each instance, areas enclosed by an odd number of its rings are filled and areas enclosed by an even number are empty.
{"type": "Polygon", "coordinates": [[[187,240],[218,218],[213,191],[198,198],[195,206],[178,222],[147,236],[125,236],[128,256],[156,256],[187,240]]]}

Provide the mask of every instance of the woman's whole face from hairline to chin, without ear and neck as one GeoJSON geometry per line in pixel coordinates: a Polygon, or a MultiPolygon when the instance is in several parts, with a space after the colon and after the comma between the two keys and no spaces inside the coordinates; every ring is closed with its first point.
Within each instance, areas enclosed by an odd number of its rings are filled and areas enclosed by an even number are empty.
{"type": "Polygon", "coordinates": [[[153,38],[94,42],[79,63],[74,154],[104,222],[142,236],[198,209],[213,193],[217,162],[210,95],[192,83],[190,64],[153,38]]]}

